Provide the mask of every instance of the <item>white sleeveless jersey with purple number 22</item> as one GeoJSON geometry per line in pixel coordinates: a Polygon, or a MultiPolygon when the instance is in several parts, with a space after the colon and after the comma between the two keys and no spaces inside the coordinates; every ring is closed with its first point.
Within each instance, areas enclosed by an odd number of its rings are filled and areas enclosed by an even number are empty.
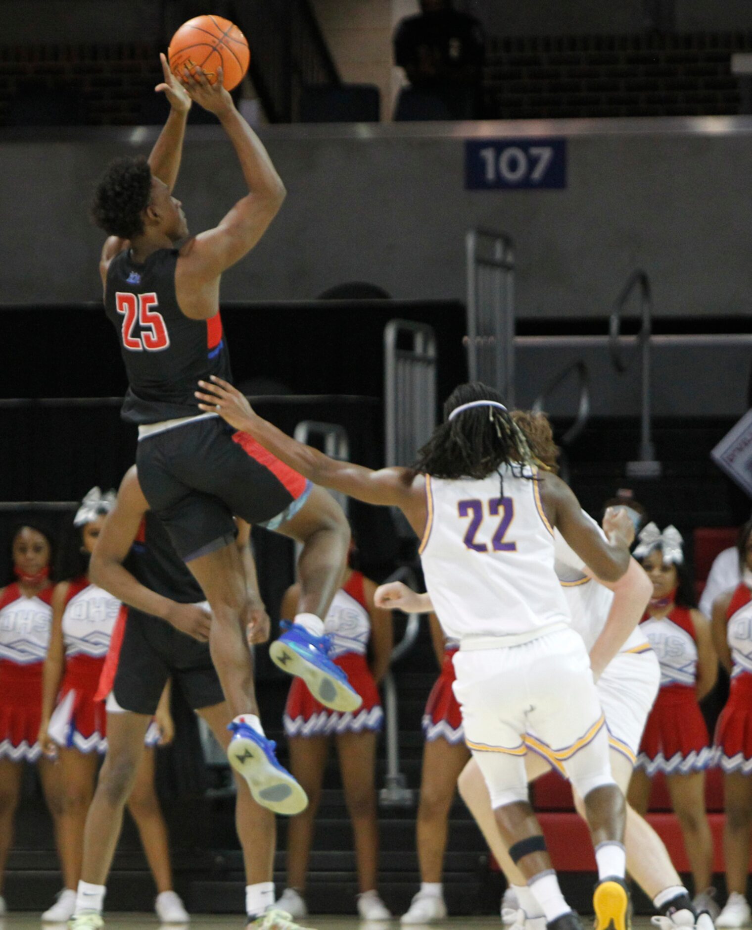
{"type": "Polygon", "coordinates": [[[427,475],[426,494],[421,561],[448,637],[516,635],[569,623],[536,472],[503,466],[482,480],[427,475]]]}

